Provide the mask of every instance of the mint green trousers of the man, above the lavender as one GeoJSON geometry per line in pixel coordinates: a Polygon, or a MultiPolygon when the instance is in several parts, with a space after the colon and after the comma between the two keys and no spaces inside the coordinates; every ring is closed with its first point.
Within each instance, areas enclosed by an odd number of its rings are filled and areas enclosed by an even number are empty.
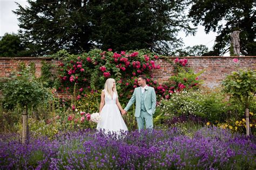
{"type": "Polygon", "coordinates": [[[140,110],[140,116],[136,117],[139,131],[145,128],[150,131],[153,130],[153,115],[150,115],[147,111],[140,110]]]}

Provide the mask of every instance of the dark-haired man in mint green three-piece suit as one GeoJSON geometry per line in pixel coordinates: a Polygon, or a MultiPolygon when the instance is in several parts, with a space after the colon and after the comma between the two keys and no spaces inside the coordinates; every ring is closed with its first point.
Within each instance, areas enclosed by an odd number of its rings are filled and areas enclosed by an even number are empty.
{"type": "Polygon", "coordinates": [[[124,108],[122,114],[126,114],[131,105],[136,101],[135,117],[138,122],[139,131],[144,129],[153,129],[153,114],[156,111],[156,92],[153,87],[149,87],[146,84],[147,78],[145,76],[139,76],[138,84],[140,87],[134,89],[132,97],[129,103],[124,108]]]}

